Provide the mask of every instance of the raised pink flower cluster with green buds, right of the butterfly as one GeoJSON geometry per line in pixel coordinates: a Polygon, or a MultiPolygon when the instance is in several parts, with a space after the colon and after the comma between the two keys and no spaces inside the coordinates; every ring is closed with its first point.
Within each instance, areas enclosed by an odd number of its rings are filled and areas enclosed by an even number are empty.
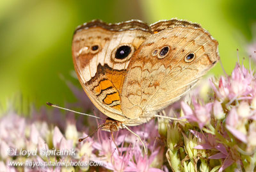
{"type": "Polygon", "coordinates": [[[170,166],[173,171],[255,171],[255,75],[237,63],[232,75],[209,82],[207,101],[193,95],[190,101],[180,102],[180,118],[189,123],[168,125],[167,134],[182,132],[172,136],[175,141],[167,139],[172,143],[170,166]]]}

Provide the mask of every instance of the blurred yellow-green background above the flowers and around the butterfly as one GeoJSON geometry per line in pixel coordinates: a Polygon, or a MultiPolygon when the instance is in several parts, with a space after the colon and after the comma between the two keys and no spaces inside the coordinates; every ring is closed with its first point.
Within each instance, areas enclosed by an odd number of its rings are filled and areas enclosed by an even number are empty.
{"type": "MultiPolygon", "coordinates": [[[[196,22],[207,29],[219,42],[228,74],[237,61],[236,49],[241,59],[248,58],[246,46],[255,33],[255,0],[1,0],[1,111],[13,101],[21,109],[30,103],[42,107],[45,102],[61,106],[76,102],[65,80],[81,88],[72,77],[71,55],[72,34],[79,24],[92,19],[140,19],[151,24],[172,18],[196,22]]],[[[220,64],[210,73],[223,74],[220,64]]]]}

